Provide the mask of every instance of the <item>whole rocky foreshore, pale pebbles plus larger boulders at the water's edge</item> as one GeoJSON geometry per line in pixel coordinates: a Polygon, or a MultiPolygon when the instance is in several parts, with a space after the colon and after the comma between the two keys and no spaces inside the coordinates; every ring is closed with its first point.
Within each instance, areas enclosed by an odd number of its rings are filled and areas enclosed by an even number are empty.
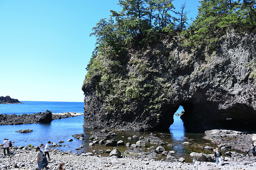
{"type": "MultiPolygon", "coordinates": [[[[255,142],[255,134],[248,134],[245,132],[238,132],[232,130],[211,130],[206,131],[206,136],[204,138],[209,138],[213,142],[221,137],[228,137],[228,134],[233,134],[237,138],[236,144],[242,148],[247,145],[246,141],[252,143],[255,142]],[[236,135],[238,134],[238,135],[236,135]],[[215,139],[215,138],[216,139],[215,139]],[[214,139],[213,139],[214,138],[214,139]]],[[[137,141],[136,144],[130,144],[130,142],[124,144],[124,142],[116,141],[115,139],[108,140],[109,136],[115,136],[116,133],[108,129],[103,129],[100,132],[93,132],[90,137],[91,142],[89,146],[81,145],[76,148],[76,152],[68,150],[63,152],[57,149],[60,144],[52,143],[50,148],[51,160],[49,161],[48,168],[57,170],[60,162],[66,164],[66,170],[75,169],[179,169],[179,170],[226,170],[226,169],[256,169],[256,160],[253,159],[250,150],[247,153],[238,153],[231,151],[233,143],[228,143],[226,141],[226,148],[221,147],[220,151],[223,155],[223,165],[216,166],[213,158],[213,154],[196,153],[191,152],[190,158],[193,162],[185,161],[184,158],[180,157],[174,152],[165,151],[164,143],[160,138],[156,137],[154,134],[150,134],[148,137],[137,137],[136,135],[130,137],[133,141],[137,141]],[[150,146],[146,147],[146,143],[154,143],[159,145],[158,147],[150,146]],[[106,149],[96,150],[94,146],[106,145],[106,149]],[[120,152],[118,148],[121,145],[126,146],[124,152],[120,152]],[[163,145],[163,146],[162,146],[163,145]],[[228,147],[230,145],[231,147],[228,147]],[[107,146],[111,146],[108,148],[107,146]],[[88,147],[91,151],[87,152],[82,148],[88,147]],[[80,151],[79,151],[80,150],[80,151]],[[82,151],[82,152],[81,152],[82,151]]],[[[83,134],[76,134],[73,137],[84,140],[83,134]]],[[[234,136],[233,136],[234,137],[234,136]]],[[[72,141],[71,139],[69,139],[72,141]]],[[[68,141],[69,141],[68,140],[68,141]]],[[[223,140],[224,141],[224,140],[223,140]]],[[[60,140],[58,143],[64,141],[60,140]]],[[[248,143],[249,147],[251,146],[248,143]]],[[[220,142],[220,145],[223,145],[220,142]]],[[[35,163],[36,150],[34,146],[28,145],[24,146],[13,146],[10,148],[12,152],[11,156],[3,157],[2,144],[0,144],[0,170],[6,169],[35,169],[37,164],[35,163]]],[[[68,146],[70,147],[70,146],[68,146]]],[[[167,146],[168,147],[168,146],[167,146]]],[[[97,147],[96,147],[97,148],[97,147]]],[[[103,147],[104,148],[104,147],[103,147]]],[[[214,150],[213,147],[206,146],[205,150],[214,150]]],[[[213,151],[212,151],[213,152],[213,151]]]]}

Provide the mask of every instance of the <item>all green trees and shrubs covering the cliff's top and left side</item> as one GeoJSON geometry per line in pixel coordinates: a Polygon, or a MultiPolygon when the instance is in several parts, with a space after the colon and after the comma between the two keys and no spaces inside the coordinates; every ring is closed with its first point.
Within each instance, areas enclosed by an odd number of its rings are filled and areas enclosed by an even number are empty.
{"type": "MultiPolygon", "coordinates": [[[[159,65],[158,59],[161,57],[172,67],[177,65],[172,65],[172,46],[164,41],[177,40],[191,49],[190,53],[203,49],[208,54],[199,59],[207,62],[228,30],[255,29],[255,0],[202,0],[200,3],[196,20],[187,30],[183,30],[188,20],[185,3],[183,12],[176,11],[180,17],[176,18],[170,14],[175,9],[170,0],[120,0],[123,10],[110,10],[111,17],[101,19],[93,27],[91,35],[96,36],[97,47],[87,66],[84,84],[93,83],[107,114],[116,111],[126,114],[133,102],[148,103],[143,113],[157,113],[169,102],[172,85],[157,76],[159,69],[166,67],[159,65]]],[[[192,53],[191,57],[194,57],[192,53]]],[[[183,59],[188,65],[191,63],[191,58],[183,59]]],[[[201,71],[204,69],[202,66],[201,71]]]]}

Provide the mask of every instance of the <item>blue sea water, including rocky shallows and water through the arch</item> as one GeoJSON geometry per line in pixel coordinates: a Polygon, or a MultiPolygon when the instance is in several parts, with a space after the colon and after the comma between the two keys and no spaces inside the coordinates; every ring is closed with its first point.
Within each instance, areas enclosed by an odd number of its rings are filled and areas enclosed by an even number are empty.
{"type": "MultiPolygon", "coordinates": [[[[45,112],[46,110],[52,113],[64,113],[64,112],[76,112],[84,113],[84,102],[57,102],[57,101],[20,101],[24,104],[1,104],[0,114],[34,114],[38,112],[45,112]]],[[[179,107],[176,113],[180,114],[183,107],[179,107]]],[[[208,140],[203,139],[204,133],[188,133],[183,126],[183,122],[179,115],[173,115],[174,123],[170,125],[168,131],[165,132],[135,132],[126,131],[120,129],[113,129],[117,136],[110,137],[115,138],[117,141],[123,140],[124,143],[130,142],[131,144],[136,144],[137,140],[128,140],[128,137],[133,135],[149,136],[150,133],[156,134],[157,137],[161,138],[167,144],[171,144],[171,147],[164,146],[166,151],[175,151],[175,156],[177,158],[183,157],[186,161],[191,162],[192,159],[189,157],[191,152],[204,152],[210,154],[212,152],[205,151],[202,146],[211,145],[216,147],[216,144],[211,143],[208,140]],[[189,144],[184,144],[184,142],[189,142],[189,144]]],[[[98,150],[107,149],[112,150],[112,147],[106,147],[105,145],[96,144],[94,146],[89,146],[92,141],[89,137],[93,132],[99,131],[100,129],[90,129],[84,128],[84,115],[63,118],[58,120],[53,120],[49,123],[36,123],[36,124],[22,124],[22,125],[2,125],[0,126],[0,140],[8,138],[14,141],[14,146],[28,146],[31,144],[36,147],[41,143],[45,144],[48,141],[56,142],[59,146],[52,147],[52,149],[58,149],[59,151],[68,151],[75,153],[86,153],[86,152],[97,152],[98,150]],[[22,129],[32,129],[33,132],[30,133],[19,133],[15,132],[22,129]],[[84,140],[80,141],[72,135],[84,134],[84,140]],[[72,142],[68,142],[68,139],[73,139],[72,142]],[[63,140],[64,143],[58,143],[58,141],[63,140]]],[[[110,140],[109,139],[109,140],[110,140]]],[[[147,147],[152,145],[147,144],[147,147]]],[[[157,145],[153,145],[157,147],[157,145]]],[[[120,152],[124,152],[128,149],[126,146],[117,146],[120,152]]],[[[107,154],[103,156],[108,156],[107,154]]],[[[161,159],[161,157],[159,158],[161,159]]]]}

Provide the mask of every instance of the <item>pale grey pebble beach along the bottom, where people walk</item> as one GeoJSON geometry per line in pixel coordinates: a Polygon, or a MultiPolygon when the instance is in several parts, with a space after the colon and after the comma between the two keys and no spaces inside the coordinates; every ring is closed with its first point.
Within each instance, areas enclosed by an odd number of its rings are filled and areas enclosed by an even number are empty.
{"type": "MultiPolygon", "coordinates": [[[[1,152],[3,152],[1,150],[1,152]]],[[[7,170],[35,170],[36,164],[36,150],[19,150],[16,149],[14,154],[0,159],[0,169],[7,170]]],[[[226,170],[226,169],[244,169],[256,170],[256,160],[252,156],[238,156],[231,157],[228,161],[224,162],[223,166],[216,166],[212,162],[194,162],[194,163],[181,163],[181,162],[165,162],[164,160],[139,160],[132,155],[122,155],[121,158],[116,156],[101,157],[100,155],[85,156],[85,154],[60,152],[59,150],[51,150],[51,160],[47,169],[57,170],[61,162],[66,165],[66,170],[113,170],[113,169],[150,169],[150,170],[226,170]]],[[[44,168],[45,169],[45,168],[44,168]]]]}

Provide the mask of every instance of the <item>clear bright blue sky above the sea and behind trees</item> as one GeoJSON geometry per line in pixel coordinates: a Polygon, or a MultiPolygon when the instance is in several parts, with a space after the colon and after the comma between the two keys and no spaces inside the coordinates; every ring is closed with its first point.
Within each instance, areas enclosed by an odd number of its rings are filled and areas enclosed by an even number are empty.
{"type": "MultiPolygon", "coordinates": [[[[20,101],[80,101],[95,48],[92,27],[118,0],[0,0],[0,96],[20,101]]],[[[176,11],[184,1],[174,0],[176,11]]],[[[196,0],[187,0],[196,18],[196,0]]]]}

